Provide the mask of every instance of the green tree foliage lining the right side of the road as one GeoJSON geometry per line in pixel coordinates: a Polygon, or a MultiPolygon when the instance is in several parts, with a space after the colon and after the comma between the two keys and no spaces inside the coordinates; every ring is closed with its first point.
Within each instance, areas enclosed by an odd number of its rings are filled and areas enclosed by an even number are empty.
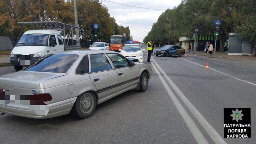
{"type": "Polygon", "coordinates": [[[199,34],[213,35],[214,20],[221,19],[219,39],[220,51],[223,51],[230,32],[242,32],[243,30],[239,29],[242,25],[255,32],[255,29],[252,29],[255,23],[250,23],[248,19],[255,16],[255,11],[255,0],[183,0],[174,9],[168,9],[159,16],[143,41],[152,39],[156,44],[167,44],[170,32],[170,41],[174,44],[179,41],[179,37],[192,37],[196,26],[199,34]],[[171,26],[166,18],[171,20],[171,26]]]}

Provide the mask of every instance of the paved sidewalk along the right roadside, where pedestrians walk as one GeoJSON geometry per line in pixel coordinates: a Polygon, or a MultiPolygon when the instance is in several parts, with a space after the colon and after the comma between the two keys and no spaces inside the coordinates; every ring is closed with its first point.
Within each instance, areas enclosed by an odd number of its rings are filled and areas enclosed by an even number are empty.
{"type": "Polygon", "coordinates": [[[256,57],[254,56],[229,56],[228,53],[224,53],[224,52],[216,52],[216,54],[212,54],[212,56],[209,55],[209,53],[205,53],[205,52],[188,52],[186,51],[186,53],[191,53],[194,55],[200,55],[200,56],[205,56],[205,57],[209,57],[209,58],[218,58],[218,59],[228,59],[228,60],[241,60],[241,61],[256,61],[256,57]]]}

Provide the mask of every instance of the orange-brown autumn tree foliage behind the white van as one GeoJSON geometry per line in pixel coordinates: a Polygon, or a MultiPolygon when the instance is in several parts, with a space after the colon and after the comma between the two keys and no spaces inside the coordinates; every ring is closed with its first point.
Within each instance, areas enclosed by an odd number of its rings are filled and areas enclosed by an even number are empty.
{"type": "MultiPolygon", "coordinates": [[[[80,25],[81,40],[95,40],[93,28],[98,24],[98,40],[108,42],[113,35],[113,17],[99,0],[76,0],[77,18],[80,25]]],[[[16,43],[31,26],[18,25],[18,21],[59,21],[74,25],[73,0],[1,0],[0,34],[8,35],[16,43]]],[[[115,23],[115,34],[130,37],[129,27],[115,23]]]]}

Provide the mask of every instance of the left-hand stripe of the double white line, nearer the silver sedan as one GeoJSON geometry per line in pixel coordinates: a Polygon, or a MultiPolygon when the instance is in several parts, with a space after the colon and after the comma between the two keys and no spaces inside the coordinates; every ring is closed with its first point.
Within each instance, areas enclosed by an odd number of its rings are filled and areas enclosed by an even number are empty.
{"type": "Polygon", "coordinates": [[[185,123],[187,124],[189,130],[193,134],[194,138],[196,139],[197,143],[199,144],[208,144],[207,140],[204,138],[203,134],[201,131],[198,129],[196,126],[195,122],[191,119],[189,114],[186,112],[180,101],[177,99],[177,97],[174,95],[166,81],[164,80],[163,76],[160,74],[160,72],[157,70],[155,64],[152,62],[152,66],[154,70],[156,71],[158,77],[160,78],[163,86],[165,87],[168,95],[171,97],[173,103],[177,107],[178,111],[180,112],[182,118],[184,119],[185,123]]]}

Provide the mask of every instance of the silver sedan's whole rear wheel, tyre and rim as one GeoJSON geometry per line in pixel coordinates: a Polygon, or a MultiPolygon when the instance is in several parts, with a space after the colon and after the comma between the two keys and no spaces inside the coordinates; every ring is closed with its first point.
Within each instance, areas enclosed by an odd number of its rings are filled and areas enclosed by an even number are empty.
{"type": "Polygon", "coordinates": [[[71,113],[77,118],[87,118],[91,116],[96,108],[96,95],[88,91],[76,98],[71,113]]]}

